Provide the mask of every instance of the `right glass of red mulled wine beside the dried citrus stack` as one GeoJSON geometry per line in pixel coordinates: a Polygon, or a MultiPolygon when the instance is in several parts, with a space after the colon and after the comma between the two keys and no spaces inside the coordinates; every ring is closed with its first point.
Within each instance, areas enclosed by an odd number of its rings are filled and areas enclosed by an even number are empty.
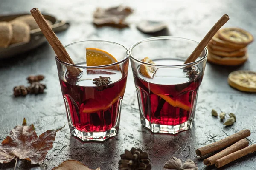
{"type": "Polygon", "coordinates": [[[142,40],[129,49],[141,123],[152,132],[175,134],[192,127],[207,48],[195,62],[184,62],[197,45],[163,36],[142,40]]]}

